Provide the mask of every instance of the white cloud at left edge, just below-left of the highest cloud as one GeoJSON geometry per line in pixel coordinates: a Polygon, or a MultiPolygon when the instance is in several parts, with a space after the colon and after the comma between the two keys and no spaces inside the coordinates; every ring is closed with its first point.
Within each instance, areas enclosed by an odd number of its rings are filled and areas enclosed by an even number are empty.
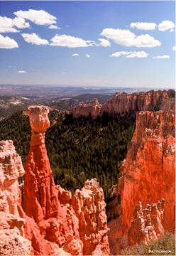
{"type": "Polygon", "coordinates": [[[7,18],[0,16],[0,33],[20,32],[17,28],[29,28],[24,18],[7,18]]]}

